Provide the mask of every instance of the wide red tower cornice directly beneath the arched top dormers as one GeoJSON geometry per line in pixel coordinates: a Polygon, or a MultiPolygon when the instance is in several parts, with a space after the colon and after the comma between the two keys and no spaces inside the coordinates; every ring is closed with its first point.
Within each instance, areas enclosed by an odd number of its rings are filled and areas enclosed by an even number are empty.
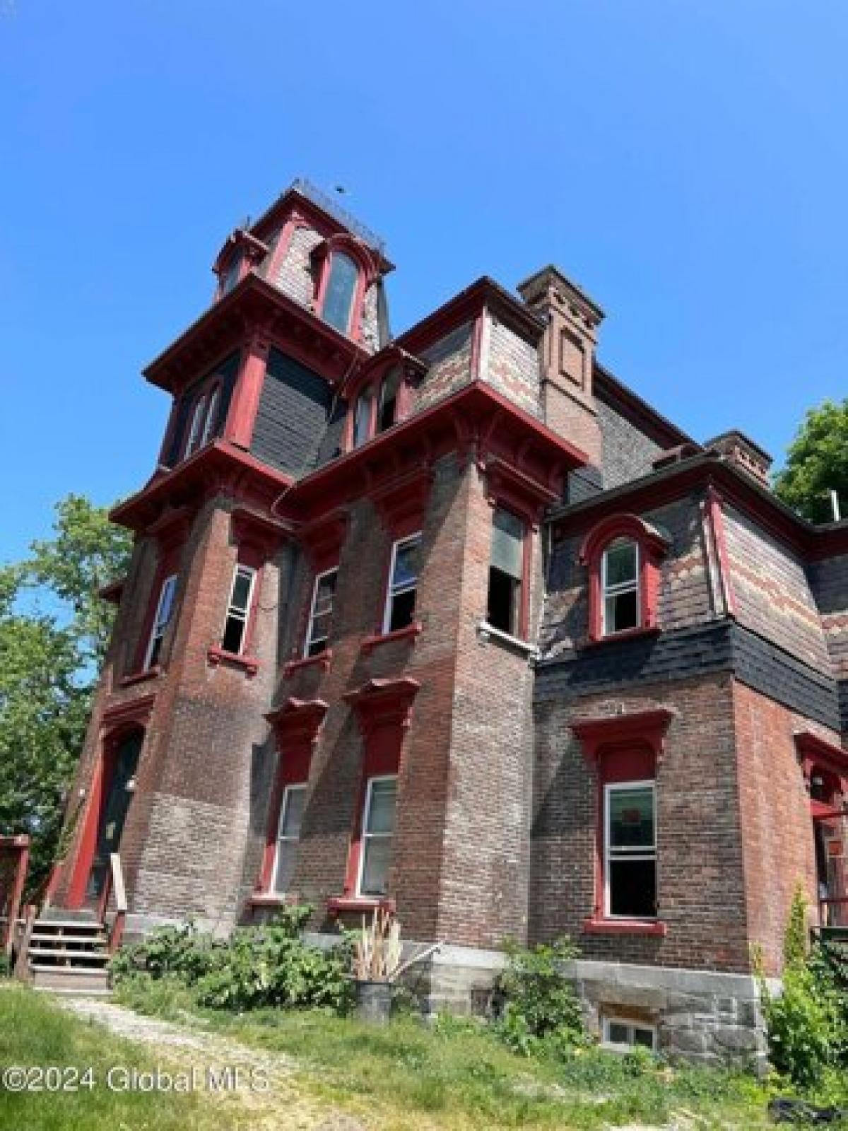
{"type": "Polygon", "coordinates": [[[354,362],[369,356],[346,335],[250,271],[152,361],[144,375],[153,385],[178,391],[254,333],[313,365],[329,381],[340,381],[354,362]]]}

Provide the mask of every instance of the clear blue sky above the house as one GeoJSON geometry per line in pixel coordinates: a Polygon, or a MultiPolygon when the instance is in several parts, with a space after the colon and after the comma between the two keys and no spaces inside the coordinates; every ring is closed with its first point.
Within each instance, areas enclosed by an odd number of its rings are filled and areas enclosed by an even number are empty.
{"type": "Polygon", "coordinates": [[[0,0],[0,560],[149,475],[139,370],[297,174],[396,330],[554,261],[626,383],[779,457],[848,391],[847,54],[845,0],[0,0]]]}

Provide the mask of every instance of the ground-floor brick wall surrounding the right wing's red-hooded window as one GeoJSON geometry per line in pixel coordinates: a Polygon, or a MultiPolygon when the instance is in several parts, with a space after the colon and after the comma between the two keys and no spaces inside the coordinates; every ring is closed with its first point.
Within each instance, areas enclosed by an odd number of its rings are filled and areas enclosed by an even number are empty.
{"type": "Polygon", "coordinates": [[[746,970],[743,857],[729,675],[537,705],[530,938],[569,934],[585,958],[746,970]],[[658,900],[665,938],[583,934],[595,904],[597,785],[570,724],[666,707],[657,768],[658,900]]]}

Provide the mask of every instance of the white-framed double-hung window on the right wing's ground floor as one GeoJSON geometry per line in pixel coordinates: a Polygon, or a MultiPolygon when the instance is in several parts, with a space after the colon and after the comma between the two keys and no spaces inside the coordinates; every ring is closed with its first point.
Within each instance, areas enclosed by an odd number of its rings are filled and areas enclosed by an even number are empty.
{"type": "Polygon", "coordinates": [[[606,914],[657,916],[657,821],[654,782],[604,787],[606,914]]]}

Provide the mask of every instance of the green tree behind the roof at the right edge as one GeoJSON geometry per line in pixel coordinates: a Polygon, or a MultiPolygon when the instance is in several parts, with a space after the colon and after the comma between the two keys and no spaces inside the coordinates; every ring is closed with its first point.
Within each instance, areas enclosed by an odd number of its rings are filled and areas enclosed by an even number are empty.
{"type": "Polygon", "coordinates": [[[778,498],[813,523],[832,520],[831,491],[848,517],[848,397],[807,412],[775,480],[778,498]]]}

